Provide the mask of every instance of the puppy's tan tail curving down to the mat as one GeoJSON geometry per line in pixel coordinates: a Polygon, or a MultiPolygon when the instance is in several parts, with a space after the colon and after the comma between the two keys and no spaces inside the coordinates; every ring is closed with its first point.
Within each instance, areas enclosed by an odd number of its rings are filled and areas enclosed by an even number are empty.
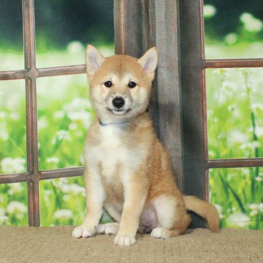
{"type": "Polygon", "coordinates": [[[191,210],[206,219],[208,228],[219,232],[219,215],[214,205],[193,196],[183,196],[187,210],[191,210]]]}

